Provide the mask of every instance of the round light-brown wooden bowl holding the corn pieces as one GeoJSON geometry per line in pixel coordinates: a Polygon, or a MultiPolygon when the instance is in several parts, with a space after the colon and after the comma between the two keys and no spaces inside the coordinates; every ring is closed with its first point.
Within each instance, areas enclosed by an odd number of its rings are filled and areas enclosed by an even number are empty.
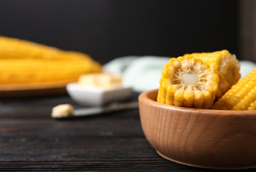
{"type": "Polygon", "coordinates": [[[158,90],[139,95],[146,139],[162,157],[193,167],[256,167],[256,111],[175,107],[156,101],[158,90]]]}

